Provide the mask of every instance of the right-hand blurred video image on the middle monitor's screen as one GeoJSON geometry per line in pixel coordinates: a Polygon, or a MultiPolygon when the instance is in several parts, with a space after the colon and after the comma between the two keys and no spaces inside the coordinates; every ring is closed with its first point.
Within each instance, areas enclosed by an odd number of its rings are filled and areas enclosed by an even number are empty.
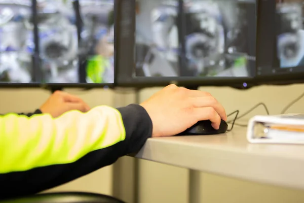
{"type": "Polygon", "coordinates": [[[255,68],[255,0],[192,0],[184,1],[183,8],[187,75],[251,76],[250,69],[255,68]],[[250,37],[249,32],[254,35],[250,37]]]}

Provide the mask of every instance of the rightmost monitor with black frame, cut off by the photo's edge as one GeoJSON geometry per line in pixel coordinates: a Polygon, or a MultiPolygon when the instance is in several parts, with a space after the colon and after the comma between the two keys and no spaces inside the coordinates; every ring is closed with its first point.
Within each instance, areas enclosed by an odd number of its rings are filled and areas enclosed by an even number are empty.
{"type": "Polygon", "coordinates": [[[304,82],[304,1],[258,2],[259,84],[304,82]]]}

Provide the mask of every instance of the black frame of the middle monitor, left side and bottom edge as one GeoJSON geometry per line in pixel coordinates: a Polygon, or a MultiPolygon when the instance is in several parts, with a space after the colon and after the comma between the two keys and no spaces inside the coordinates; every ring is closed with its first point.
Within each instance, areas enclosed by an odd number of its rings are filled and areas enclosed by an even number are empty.
{"type": "MultiPolygon", "coordinates": [[[[183,1],[179,0],[179,11],[183,1]]],[[[134,74],[135,46],[135,0],[124,0],[118,3],[118,47],[115,74],[115,86],[118,87],[152,87],[176,84],[180,86],[231,86],[249,88],[255,85],[254,77],[132,77],[134,74]],[[131,67],[131,68],[125,68],[131,67]],[[245,85],[246,84],[246,85],[245,85]]],[[[182,38],[179,31],[179,39],[182,38]]],[[[255,33],[254,33],[255,34],[255,33]]],[[[181,59],[181,61],[184,61],[181,59]]],[[[184,62],[181,62],[184,64],[184,62]]]]}

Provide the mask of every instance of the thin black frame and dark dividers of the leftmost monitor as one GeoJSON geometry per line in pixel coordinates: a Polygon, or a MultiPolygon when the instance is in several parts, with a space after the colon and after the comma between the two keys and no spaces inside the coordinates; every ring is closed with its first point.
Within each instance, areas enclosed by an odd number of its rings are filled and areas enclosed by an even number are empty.
{"type": "MultiPolygon", "coordinates": [[[[78,2],[78,0],[75,0],[75,2],[78,2]]],[[[118,10],[118,3],[120,0],[114,1],[114,47],[117,47],[117,24],[118,24],[118,16],[117,16],[117,10],[118,10]]],[[[32,78],[37,81],[42,78],[42,73],[40,69],[41,65],[41,59],[40,59],[40,50],[39,50],[39,29],[38,29],[38,16],[37,16],[37,0],[31,0],[31,11],[32,11],[32,20],[33,20],[33,40],[35,44],[34,53],[32,55],[32,65],[33,65],[33,72],[32,72],[32,78]]],[[[77,6],[77,5],[76,5],[77,6]]],[[[79,3],[78,7],[79,8],[79,3]]],[[[80,12],[76,12],[75,16],[77,19],[77,29],[78,29],[78,37],[80,37],[80,30],[81,30],[81,22],[80,22],[80,12]]],[[[114,50],[114,65],[116,66],[116,57],[117,57],[117,51],[114,50]]],[[[83,66],[84,63],[82,63],[82,60],[79,60],[79,65],[83,66]]],[[[80,74],[85,74],[85,71],[83,68],[79,68],[80,74]]],[[[115,69],[114,69],[114,76],[115,76],[115,69]]],[[[81,77],[81,76],[80,76],[81,77]]],[[[0,83],[0,88],[46,88],[46,89],[62,89],[62,88],[85,88],[85,89],[91,89],[91,88],[102,88],[102,87],[110,87],[112,88],[114,86],[113,83],[40,83],[40,82],[33,82],[33,83],[0,83]]]]}

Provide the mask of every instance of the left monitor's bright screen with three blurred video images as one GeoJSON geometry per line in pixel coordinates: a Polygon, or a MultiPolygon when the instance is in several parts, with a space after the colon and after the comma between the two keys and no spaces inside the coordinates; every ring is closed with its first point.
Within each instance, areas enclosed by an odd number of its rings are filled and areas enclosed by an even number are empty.
{"type": "Polygon", "coordinates": [[[0,85],[114,80],[114,0],[0,0],[0,85]]]}

